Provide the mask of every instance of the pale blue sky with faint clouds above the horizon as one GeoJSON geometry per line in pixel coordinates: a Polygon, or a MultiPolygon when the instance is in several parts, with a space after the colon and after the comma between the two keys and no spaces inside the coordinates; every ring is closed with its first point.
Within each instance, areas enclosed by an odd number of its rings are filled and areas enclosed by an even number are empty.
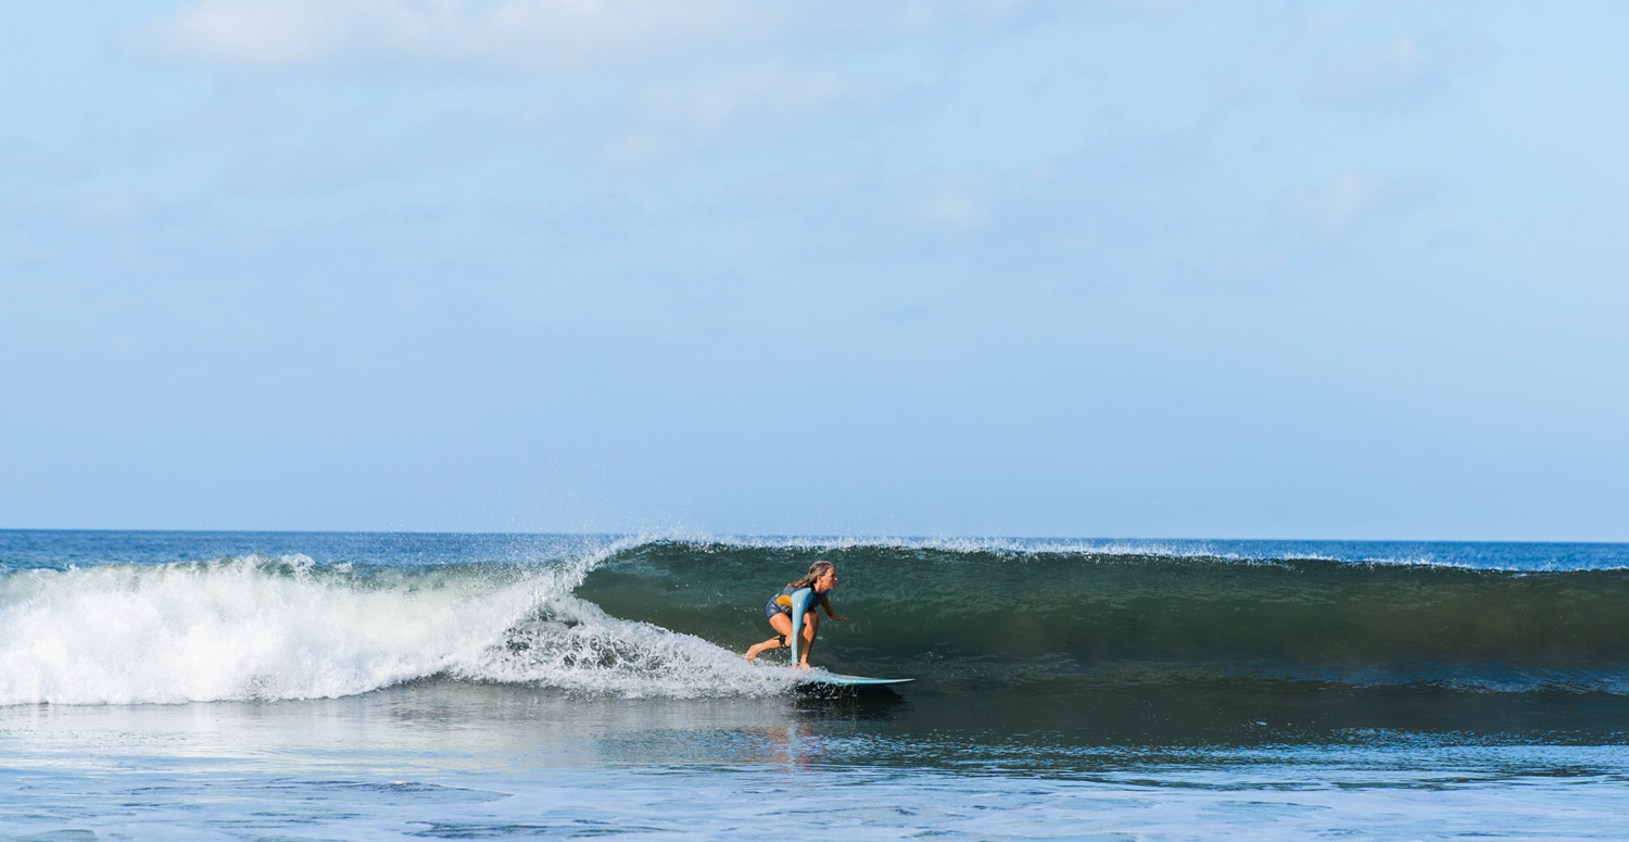
{"type": "Polygon", "coordinates": [[[1629,7],[0,31],[0,528],[1629,541],[1629,7]]]}

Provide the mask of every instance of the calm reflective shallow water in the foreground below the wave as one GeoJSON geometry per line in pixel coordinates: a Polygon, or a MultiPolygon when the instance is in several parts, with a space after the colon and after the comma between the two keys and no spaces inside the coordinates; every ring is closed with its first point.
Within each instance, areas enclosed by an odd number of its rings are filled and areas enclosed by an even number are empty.
{"type": "Polygon", "coordinates": [[[1432,721],[1383,700],[1178,702],[419,682],[310,702],[11,707],[0,837],[712,839],[793,821],[845,839],[1613,839],[1629,808],[1629,749],[1605,720],[1544,736],[1531,710],[1491,708],[1474,731],[1352,725],[1432,721]]]}

